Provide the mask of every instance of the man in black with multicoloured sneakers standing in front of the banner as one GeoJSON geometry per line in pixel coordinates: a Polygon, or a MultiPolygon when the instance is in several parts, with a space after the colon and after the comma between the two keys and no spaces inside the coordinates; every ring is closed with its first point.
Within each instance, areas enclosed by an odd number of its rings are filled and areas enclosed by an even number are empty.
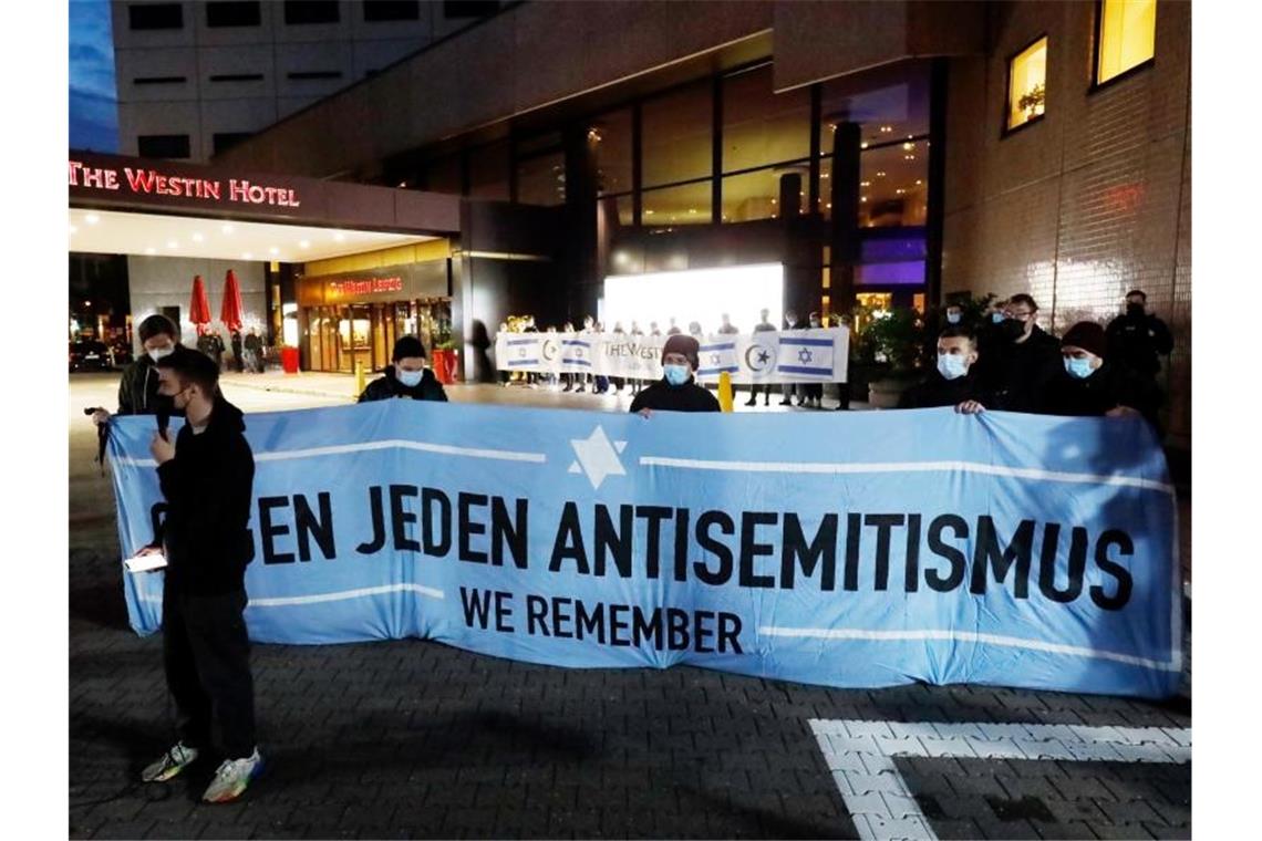
{"type": "Polygon", "coordinates": [[[162,393],[187,420],[174,443],[162,430],[149,446],[167,516],[141,554],[167,556],[163,662],[180,739],[141,779],[170,779],[211,748],[213,738],[223,762],[202,799],[227,802],[241,796],[262,765],[244,615],[245,567],[254,555],[254,454],[241,410],[220,393],[213,361],[175,353],[160,359],[158,371],[162,393]]]}

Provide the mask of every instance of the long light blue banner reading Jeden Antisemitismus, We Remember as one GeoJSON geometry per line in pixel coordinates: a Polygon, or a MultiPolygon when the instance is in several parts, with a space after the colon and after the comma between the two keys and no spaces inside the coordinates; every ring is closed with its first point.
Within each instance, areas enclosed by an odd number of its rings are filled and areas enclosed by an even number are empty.
{"type": "MultiPolygon", "coordinates": [[[[1177,691],[1175,497],[1147,425],[392,400],[247,415],[252,639],[422,637],[838,687],[1177,691]]],[[[125,555],[162,496],[114,421],[125,555]]],[[[131,625],[162,574],[124,574],[131,625]]]]}

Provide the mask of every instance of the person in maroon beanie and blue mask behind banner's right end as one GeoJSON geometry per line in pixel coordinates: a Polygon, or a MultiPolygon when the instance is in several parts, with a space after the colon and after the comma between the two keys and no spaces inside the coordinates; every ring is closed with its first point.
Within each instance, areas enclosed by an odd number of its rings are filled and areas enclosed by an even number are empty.
{"type": "Polygon", "coordinates": [[[1061,372],[1049,383],[1047,415],[1124,417],[1141,415],[1157,429],[1156,383],[1108,358],[1104,328],[1079,322],[1060,339],[1061,372]]]}

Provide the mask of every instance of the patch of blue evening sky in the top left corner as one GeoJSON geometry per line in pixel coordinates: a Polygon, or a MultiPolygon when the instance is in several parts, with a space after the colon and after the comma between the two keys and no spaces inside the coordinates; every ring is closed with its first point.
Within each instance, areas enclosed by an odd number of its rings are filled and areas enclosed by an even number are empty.
{"type": "Polygon", "coordinates": [[[71,0],[71,148],[119,149],[109,0],[71,0]]]}

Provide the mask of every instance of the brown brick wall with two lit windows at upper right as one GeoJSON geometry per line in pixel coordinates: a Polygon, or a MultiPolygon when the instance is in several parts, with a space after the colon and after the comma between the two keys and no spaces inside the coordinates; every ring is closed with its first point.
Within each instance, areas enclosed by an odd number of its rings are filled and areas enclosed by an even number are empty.
{"type": "Polygon", "coordinates": [[[1191,435],[1191,6],[1157,5],[1156,61],[1089,92],[1095,4],[989,8],[953,59],[943,290],[1030,293],[1044,329],[1107,323],[1129,289],[1170,324],[1172,441],[1191,435]],[[1046,34],[1046,116],[1003,136],[1008,57],[1046,34]]]}

